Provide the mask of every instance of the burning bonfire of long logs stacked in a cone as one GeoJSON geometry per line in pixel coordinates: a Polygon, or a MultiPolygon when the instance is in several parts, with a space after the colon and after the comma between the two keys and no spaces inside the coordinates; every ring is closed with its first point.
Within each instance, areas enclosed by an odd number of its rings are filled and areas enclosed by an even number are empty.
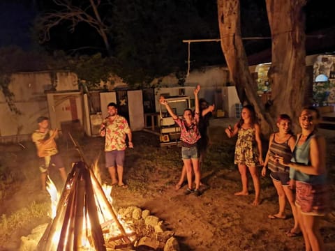
{"type": "MultiPolygon", "coordinates": [[[[49,182],[52,201],[53,187],[49,182]]],[[[107,185],[105,190],[110,192],[107,185]]],[[[131,245],[135,232],[117,218],[106,194],[91,168],[75,162],[38,250],[106,250],[131,245]]]]}

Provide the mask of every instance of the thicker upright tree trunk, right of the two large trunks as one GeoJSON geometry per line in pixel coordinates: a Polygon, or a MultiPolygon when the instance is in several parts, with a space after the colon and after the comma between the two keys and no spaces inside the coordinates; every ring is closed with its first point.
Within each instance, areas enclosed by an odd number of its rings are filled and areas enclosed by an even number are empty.
{"type": "Polygon", "coordinates": [[[306,52],[304,15],[306,0],[266,0],[271,28],[272,60],[270,111],[273,117],[289,114],[293,121],[304,104],[306,52]]]}

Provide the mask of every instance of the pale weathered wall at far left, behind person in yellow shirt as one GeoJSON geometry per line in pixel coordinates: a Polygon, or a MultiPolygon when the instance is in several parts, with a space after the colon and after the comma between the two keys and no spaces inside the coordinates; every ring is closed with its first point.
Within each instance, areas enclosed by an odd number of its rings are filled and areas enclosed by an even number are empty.
{"type": "MultiPolygon", "coordinates": [[[[20,141],[30,139],[36,130],[36,119],[39,116],[50,116],[45,91],[52,89],[53,84],[61,89],[77,89],[75,76],[70,73],[57,73],[52,83],[50,72],[15,73],[10,76],[8,89],[14,94],[15,107],[21,114],[11,111],[6,97],[0,91],[0,141],[20,141]],[[15,136],[15,139],[10,139],[15,136]]],[[[57,90],[57,87],[56,87],[57,90]]],[[[58,91],[58,90],[57,90],[58,91]]]]}

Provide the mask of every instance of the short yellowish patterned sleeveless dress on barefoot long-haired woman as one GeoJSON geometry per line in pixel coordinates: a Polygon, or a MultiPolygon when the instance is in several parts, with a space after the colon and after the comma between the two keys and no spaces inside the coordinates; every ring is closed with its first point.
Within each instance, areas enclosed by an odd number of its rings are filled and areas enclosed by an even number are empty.
{"type": "Polygon", "coordinates": [[[258,148],[255,145],[255,128],[239,128],[235,146],[234,164],[255,167],[258,165],[258,148]]]}

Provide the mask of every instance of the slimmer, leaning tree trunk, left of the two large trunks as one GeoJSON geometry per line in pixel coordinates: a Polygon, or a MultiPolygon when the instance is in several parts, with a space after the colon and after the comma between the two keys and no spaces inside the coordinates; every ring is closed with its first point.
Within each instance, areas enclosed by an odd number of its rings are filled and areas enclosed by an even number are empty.
{"type": "Polygon", "coordinates": [[[262,132],[267,134],[273,121],[256,93],[256,86],[248,68],[248,59],[241,38],[239,0],[218,0],[218,26],[221,47],[241,103],[250,103],[261,121],[262,132]]]}

